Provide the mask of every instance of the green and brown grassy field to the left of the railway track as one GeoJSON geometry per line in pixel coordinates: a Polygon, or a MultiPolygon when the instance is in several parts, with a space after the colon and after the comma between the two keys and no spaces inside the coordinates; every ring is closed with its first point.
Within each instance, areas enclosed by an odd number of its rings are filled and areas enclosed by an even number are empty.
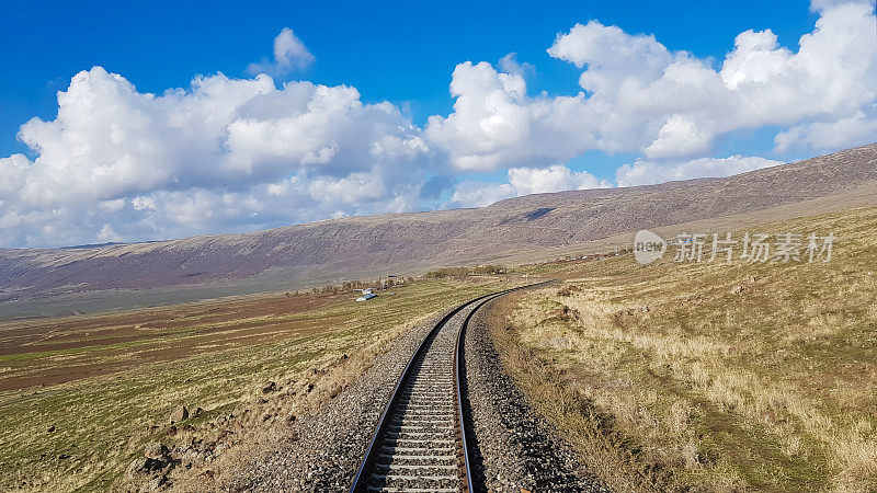
{"type": "MultiPolygon", "coordinates": [[[[0,324],[0,490],[117,486],[146,443],[169,439],[175,406],[206,410],[197,424],[250,405],[267,380],[307,386],[345,353],[355,363],[344,371],[361,371],[414,322],[498,284],[441,279],[365,303],[350,293],[280,295],[0,324]]],[[[309,395],[338,389],[317,390],[309,395]]]]}

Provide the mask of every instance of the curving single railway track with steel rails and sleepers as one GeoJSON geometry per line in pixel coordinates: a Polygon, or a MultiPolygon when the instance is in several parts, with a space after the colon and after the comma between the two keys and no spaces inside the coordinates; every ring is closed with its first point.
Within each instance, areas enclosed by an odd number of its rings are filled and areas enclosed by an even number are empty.
{"type": "Polygon", "coordinates": [[[512,290],[457,307],[424,337],[399,377],[351,492],[472,491],[458,379],[463,336],[482,305],[512,290]]]}

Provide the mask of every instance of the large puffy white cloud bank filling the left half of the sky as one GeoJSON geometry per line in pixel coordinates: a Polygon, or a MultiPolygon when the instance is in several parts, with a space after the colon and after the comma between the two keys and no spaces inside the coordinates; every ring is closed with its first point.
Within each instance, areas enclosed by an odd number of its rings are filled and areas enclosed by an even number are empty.
{"type": "Polygon", "coordinates": [[[140,93],[101,67],[0,159],[5,244],[141,240],[414,208],[429,149],[389,103],[350,87],[198,77],[140,93]]]}

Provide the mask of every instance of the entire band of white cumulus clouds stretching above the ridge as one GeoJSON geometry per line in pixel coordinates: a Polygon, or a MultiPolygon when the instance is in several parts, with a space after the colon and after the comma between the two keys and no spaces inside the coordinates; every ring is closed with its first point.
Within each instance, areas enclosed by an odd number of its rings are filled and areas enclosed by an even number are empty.
{"type": "MultiPolygon", "coordinates": [[[[255,230],[426,200],[486,205],[612,185],[568,168],[589,150],[639,156],[616,185],[725,176],[778,161],[714,157],[725,135],[775,129],[776,152],[830,151],[877,137],[877,30],[865,1],[813,0],[797,46],[744,31],[713,59],[597,21],[560,33],[548,54],[581,70],[578,93],[528,93],[514,53],[465,61],[454,108],[424,128],[356,88],[293,81],[315,57],[289,28],[252,77],[195,77],[140,92],[93,67],[58,92],[54,118],[0,158],[0,244],[64,245],[255,230]],[[471,173],[505,171],[502,183],[471,173]],[[456,185],[453,183],[456,182],[456,185]]],[[[739,134],[738,134],[739,135],[739,134]]],[[[438,204],[442,205],[442,204],[438,204]]]]}

